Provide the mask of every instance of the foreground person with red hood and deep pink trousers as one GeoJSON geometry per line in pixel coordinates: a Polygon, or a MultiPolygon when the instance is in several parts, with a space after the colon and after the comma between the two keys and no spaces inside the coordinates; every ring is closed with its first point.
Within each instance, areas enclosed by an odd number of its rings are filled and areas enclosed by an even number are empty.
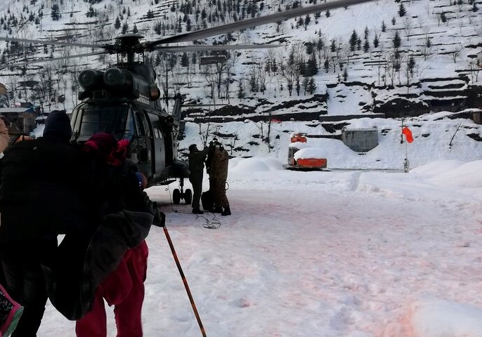
{"type": "MultiPolygon", "coordinates": [[[[84,151],[93,155],[103,169],[105,202],[103,216],[122,210],[150,212],[147,194],[143,192],[147,179],[136,166],[126,159],[128,140],[119,140],[109,133],[93,135],[84,145],[84,151]],[[109,152],[109,149],[113,150],[109,152]],[[145,206],[148,206],[145,209],[145,206]]],[[[157,205],[153,205],[157,209],[157,205]]],[[[159,225],[159,223],[157,223],[159,225]]],[[[141,310],[144,299],[144,281],[147,272],[148,246],[143,240],[126,250],[117,268],[98,286],[93,307],[77,320],[77,337],[107,336],[104,300],[114,305],[118,337],[143,336],[141,310]]]]}

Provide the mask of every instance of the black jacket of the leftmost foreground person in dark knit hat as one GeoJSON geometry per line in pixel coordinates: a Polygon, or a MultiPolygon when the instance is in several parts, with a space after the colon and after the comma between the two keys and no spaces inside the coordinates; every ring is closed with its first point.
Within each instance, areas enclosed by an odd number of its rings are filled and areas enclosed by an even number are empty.
{"type": "Polygon", "coordinates": [[[0,243],[79,232],[89,226],[90,159],[67,143],[14,144],[0,161],[0,243]]]}

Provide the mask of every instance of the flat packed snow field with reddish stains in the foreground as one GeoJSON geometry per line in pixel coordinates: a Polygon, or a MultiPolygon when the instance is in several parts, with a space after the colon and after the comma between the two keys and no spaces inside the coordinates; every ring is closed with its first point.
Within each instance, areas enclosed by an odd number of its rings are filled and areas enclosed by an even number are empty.
{"type": "MultiPolygon", "coordinates": [[[[233,215],[216,218],[171,206],[177,184],[148,193],[207,336],[480,337],[481,170],[443,160],[409,173],[294,172],[232,159],[233,215]]],[[[162,229],[148,245],[144,336],[201,336],[162,229]]],[[[112,310],[108,323],[116,336],[112,310]]],[[[38,336],[74,336],[74,323],[49,305],[38,336]]]]}

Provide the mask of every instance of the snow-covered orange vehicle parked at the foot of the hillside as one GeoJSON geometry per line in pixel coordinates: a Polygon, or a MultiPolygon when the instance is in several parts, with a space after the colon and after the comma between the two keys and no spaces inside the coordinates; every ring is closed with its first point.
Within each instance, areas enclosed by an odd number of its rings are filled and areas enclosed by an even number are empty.
{"type": "Polygon", "coordinates": [[[306,136],[301,133],[294,134],[288,147],[288,163],[285,168],[300,171],[326,169],[327,159],[316,152],[319,152],[319,149],[309,147],[306,136]]]}

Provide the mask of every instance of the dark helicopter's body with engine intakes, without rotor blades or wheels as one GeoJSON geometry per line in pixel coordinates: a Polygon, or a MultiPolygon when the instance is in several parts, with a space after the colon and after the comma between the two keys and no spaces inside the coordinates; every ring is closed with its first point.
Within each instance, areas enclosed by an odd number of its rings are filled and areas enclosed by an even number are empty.
{"type": "MultiPolygon", "coordinates": [[[[148,178],[148,185],[164,185],[188,178],[188,165],[176,159],[180,121],[159,108],[159,90],[150,68],[137,74],[122,68],[106,72],[86,70],[79,77],[86,89],[71,116],[72,142],[83,143],[94,133],[111,133],[129,140],[127,156],[148,178]],[[150,81],[146,81],[148,77],[150,81]]],[[[180,99],[180,98],[179,98],[180,99]]]]}

